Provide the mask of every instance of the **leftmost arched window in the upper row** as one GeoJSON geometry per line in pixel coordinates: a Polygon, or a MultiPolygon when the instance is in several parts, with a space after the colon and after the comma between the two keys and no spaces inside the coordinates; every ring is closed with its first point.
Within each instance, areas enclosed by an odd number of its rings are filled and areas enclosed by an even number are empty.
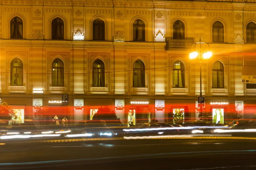
{"type": "Polygon", "coordinates": [[[11,20],[11,39],[23,39],[23,22],[19,17],[14,17],[11,20]]]}

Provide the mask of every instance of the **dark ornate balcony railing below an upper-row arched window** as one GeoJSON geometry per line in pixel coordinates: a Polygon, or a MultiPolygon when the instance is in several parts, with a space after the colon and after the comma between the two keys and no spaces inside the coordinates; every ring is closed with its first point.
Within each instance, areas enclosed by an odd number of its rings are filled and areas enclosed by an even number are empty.
{"type": "Polygon", "coordinates": [[[169,50],[170,48],[191,48],[194,43],[194,38],[173,40],[172,37],[166,37],[166,50],[169,50]]]}

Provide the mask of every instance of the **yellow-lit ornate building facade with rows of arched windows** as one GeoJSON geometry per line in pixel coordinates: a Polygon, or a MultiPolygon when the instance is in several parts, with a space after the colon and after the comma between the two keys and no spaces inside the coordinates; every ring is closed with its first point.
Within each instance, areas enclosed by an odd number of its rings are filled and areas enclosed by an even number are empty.
{"type": "MultiPolygon", "coordinates": [[[[56,108],[74,124],[108,106],[127,124],[198,118],[199,59],[204,112],[254,117],[254,0],[0,0],[0,98],[21,110],[56,108]],[[247,3],[249,2],[250,3],[247,3]],[[69,104],[62,106],[62,94],[69,104]]],[[[52,116],[55,113],[50,113],[52,116]]]]}

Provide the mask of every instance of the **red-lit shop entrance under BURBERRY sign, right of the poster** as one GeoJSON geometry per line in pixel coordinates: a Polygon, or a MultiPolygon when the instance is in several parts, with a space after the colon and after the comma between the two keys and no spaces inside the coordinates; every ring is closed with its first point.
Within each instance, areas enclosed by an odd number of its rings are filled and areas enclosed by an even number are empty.
{"type": "Polygon", "coordinates": [[[132,106],[131,110],[135,113],[136,124],[143,124],[150,122],[150,111],[148,106],[132,106]]]}

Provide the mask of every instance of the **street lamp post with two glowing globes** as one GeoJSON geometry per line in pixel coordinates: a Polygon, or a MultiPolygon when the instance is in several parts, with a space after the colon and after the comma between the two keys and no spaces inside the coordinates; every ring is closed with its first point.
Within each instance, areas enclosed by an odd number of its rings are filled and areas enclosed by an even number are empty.
{"type": "MultiPolygon", "coordinates": [[[[200,62],[200,97],[202,97],[202,56],[203,59],[209,59],[212,57],[212,52],[209,51],[210,47],[209,44],[205,42],[201,42],[201,36],[199,42],[196,42],[191,47],[191,53],[189,54],[190,59],[195,59],[199,56],[200,62]],[[199,55],[198,55],[199,54],[199,55]]],[[[202,115],[202,106],[200,106],[200,115],[202,115]]]]}

